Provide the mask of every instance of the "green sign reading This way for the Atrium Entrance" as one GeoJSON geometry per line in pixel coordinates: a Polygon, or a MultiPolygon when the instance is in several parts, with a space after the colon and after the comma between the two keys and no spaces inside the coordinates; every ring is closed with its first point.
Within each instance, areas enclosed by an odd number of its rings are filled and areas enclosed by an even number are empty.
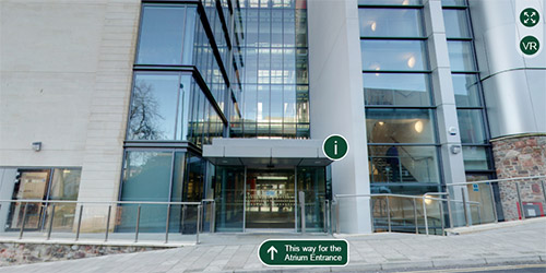
{"type": "Polygon", "coordinates": [[[325,240],[265,240],[258,257],[271,266],[344,266],[348,263],[348,242],[325,240]]]}

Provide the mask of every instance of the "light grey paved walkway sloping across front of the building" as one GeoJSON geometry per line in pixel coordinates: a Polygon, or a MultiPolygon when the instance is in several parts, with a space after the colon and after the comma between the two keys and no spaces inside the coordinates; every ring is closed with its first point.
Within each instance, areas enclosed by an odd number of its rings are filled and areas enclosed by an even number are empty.
{"type": "MultiPolygon", "coordinates": [[[[324,238],[307,236],[306,238],[324,238]]],[[[546,263],[546,218],[494,225],[455,236],[373,234],[336,236],[351,244],[344,268],[266,268],[257,256],[269,238],[292,235],[209,235],[202,245],[150,252],[0,268],[0,272],[367,272],[502,263],[546,263]]]]}

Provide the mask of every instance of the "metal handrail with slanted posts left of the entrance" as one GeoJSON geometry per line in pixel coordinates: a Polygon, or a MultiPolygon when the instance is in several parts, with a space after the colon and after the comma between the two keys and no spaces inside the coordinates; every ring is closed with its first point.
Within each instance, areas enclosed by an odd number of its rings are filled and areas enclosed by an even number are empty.
{"type": "MultiPolygon", "coordinates": [[[[204,202],[212,202],[213,204],[215,203],[214,200],[209,200],[204,199],[201,202],[163,202],[163,201],[81,201],[81,200],[41,200],[41,199],[20,199],[20,200],[0,200],[0,207],[2,206],[2,203],[21,203],[25,204],[24,210],[23,210],[23,222],[21,223],[21,228],[20,228],[20,235],[19,239],[23,238],[23,232],[25,227],[25,222],[26,222],[26,213],[27,213],[27,207],[29,203],[45,203],[45,206],[47,207],[50,203],[52,204],[52,213],[51,213],[51,218],[49,219],[49,227],[47,230],[47,240],[50,239],[51,237],[51,232],[52,232],[52,223],[54,223],[54,217],[55,217],[55,207],[56,204],[75,204],[76,207],[80,205],[80,213],[78,216],[78,227],[76,227],[76,235],[74,238],[74,241],[78,241],[80,239],[80,230],[81,230],[81,223],[82,223],[82,214],[83,214],[83,206],[84,204],[104,204],[108,205],[108,216],[106,219],[106,229],[105,229],[105,241],[108,240],[108,232],[110,228],[110,218],[111,218],[111,207],[112,205],[119,205],[119,204],[135,204],[138,206],[136,211],[136,224],[134,228],[134,242],[138,242],[139,240],[139,228],[140,228],[140,214],[141,214],[141,205],[167,205],[167,222],[166,222],[166,228],[165,228],[165,244],[168,242],[168,232],[169,232],[169,222],[170,222],[170,206],[171,205],[197,205],[198,207],[198,223],[197,223],[197,232],[195,232],[195,244],[199,244],[199,234],[201,232],[201,215],[203,213],[203,204],[204,202]]],[[[213,205],[214,207],[215,205],[213,205]]],[[[214,210],[214,209],[213,209],[214,210]]],[[[213,217],[214,218],[214,217],[213,217]]],[[[213,228],[213,226],[211,226],[213,228]]]]}

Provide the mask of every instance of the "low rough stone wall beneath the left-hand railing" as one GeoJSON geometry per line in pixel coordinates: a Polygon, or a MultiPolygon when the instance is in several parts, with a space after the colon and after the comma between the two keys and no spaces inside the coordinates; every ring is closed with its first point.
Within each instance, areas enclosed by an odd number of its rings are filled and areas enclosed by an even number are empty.
{"type": "Polygon", "coordinates": [[[72,260],[117,253],[165,249],[161,247],[129,247],[62,244],[0,242],[0,266],[72,260]]]}

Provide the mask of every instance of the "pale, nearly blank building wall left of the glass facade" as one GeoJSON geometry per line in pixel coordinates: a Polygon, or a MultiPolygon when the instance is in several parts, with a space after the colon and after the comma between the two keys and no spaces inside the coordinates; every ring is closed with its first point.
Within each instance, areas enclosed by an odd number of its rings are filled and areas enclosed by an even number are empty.
{"type": "Polygon", "coordinates": [[[0,12],[0,166],[82,167],[80,200],[117,200],[140,1],[5,0],[0,12]]]}

